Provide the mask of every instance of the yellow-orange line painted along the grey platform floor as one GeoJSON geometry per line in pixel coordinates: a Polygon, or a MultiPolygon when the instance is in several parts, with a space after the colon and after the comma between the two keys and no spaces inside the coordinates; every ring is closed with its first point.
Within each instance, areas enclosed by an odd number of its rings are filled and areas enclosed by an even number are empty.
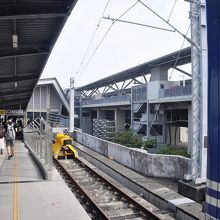
{"type": "Polygon", "coordinates": [[[19,160],[17,151],[14,152],[15,157],[15,169],[14,169],[14,190],[13,190],[13,220],[20,219],[20,207],[19,207],[19,160]]]}

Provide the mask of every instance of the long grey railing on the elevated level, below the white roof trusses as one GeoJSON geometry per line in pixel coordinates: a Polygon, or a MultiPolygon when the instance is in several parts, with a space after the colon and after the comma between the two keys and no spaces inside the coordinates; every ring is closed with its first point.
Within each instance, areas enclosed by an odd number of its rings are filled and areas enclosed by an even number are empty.
{"type": "Polygon", "coordinates": [[[101,99],[84,99],[82,105],[96,105],[96,104],[107,104],[115,102],[131,102],[131,95],[117,95],[110,97],[103,97],[101,99]]]}

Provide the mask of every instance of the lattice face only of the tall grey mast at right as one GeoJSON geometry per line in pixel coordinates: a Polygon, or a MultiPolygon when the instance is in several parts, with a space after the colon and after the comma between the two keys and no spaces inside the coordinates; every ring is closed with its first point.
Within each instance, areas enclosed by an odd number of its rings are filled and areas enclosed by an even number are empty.
{"type": "MultiPolygon", "coordinates": [[[[197,1],[199,2],[199,1],[197,1]]],[[[192,146],[192,177],[199,177],[200,149],[201,149],[201,72],[200,72],[200,6],[197,3],[190,4],[191,37],[197,47],[192,46],[192,118],[193,118],[193,146],[192,146]]]]}

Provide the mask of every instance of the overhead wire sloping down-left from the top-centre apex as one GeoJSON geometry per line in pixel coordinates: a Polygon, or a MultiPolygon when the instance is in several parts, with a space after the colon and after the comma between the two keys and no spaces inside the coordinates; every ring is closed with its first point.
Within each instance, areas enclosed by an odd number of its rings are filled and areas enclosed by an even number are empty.
{"type": "Polygon", "coordinates": [[[94,57],[95,53],[97,52],[97,50],[99,49],[99,47],[101,46],[101,44],[103,43],[103,41],[105,40],[106,36],[108,35],[109,31],[111,30],[111,28],[113,27],[113,25],[115,24],[115,22],[120,19],[121,17],[123,17],[126,13],[128,13],[133,7],[135,7],[138,4],[138,1],[136,3],[134,3],[132,6],[130,6],[124,13],[122,13],[115,21],[112,22],[112,24],[110,25],[110,27],[108,28],[108,30],[106,31],[106,33],[104,34],[104,36],[102,37],[102,39],[100,40],[100,42],[98,43],[98,46],[95,48],[94,52],[92,53],[92,55],[90,56],[90,58],[88,59],[87,63],[85,64],[81,74],[78,77],[78,80],[80,79],[80,77],[82,77],[84,71],[86,70],[87,66],[89,65],[89,63],[91,62],[92,58],[94,57]]]}

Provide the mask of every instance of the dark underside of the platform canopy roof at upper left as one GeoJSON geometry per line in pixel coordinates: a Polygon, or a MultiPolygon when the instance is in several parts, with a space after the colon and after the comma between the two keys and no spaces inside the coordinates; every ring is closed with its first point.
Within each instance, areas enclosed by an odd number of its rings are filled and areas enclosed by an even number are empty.
{"type": "Polygon", "coordinates": [[[0,1],[0,109],[25,109],[77,0],[0,1]]]}

